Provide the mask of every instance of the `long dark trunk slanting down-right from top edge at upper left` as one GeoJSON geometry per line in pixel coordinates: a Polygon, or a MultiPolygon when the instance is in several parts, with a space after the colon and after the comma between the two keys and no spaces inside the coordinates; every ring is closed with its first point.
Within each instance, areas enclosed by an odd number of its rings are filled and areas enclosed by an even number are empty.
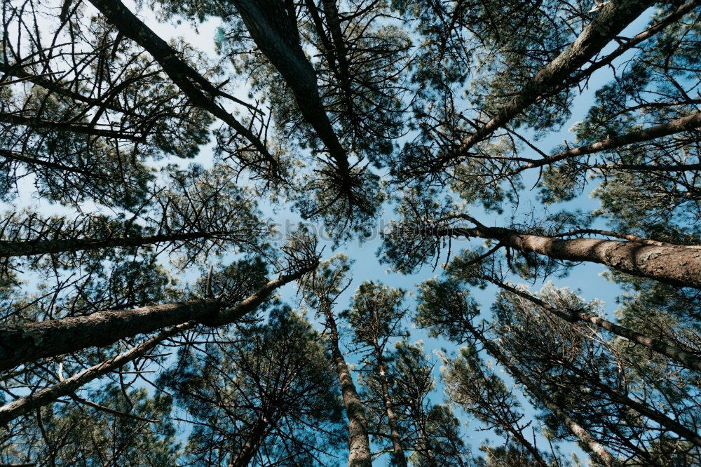
{"type": "MultiPolygon", "coordinates": [[[[142,20],[139,20],[139,18],[137,18],[121,1],[90,0],[90,3],[93,4],[121,34],[135,41],[139,46],[142,46],[144,50],[147,50],[161,65],[165,74],[168,74],[173,83],[189,97],[194,105],[210,112],[210,114],[231,126],[238,134],[250,141],[253,147],[259,151],[261,156],[263,156],[265,161],[270,165],[270,168],[275,171],[275,174],[278,173],[280,164],[268,152],[265,144],[261,142],[249,128],[244,126],[243,123],[236,120],[232,114],[224,110],[223,107],[217,105],[214,99],[218,95],[225,95],[222,91],[218,90],[212,83],[207,81],[207,79],[196,72],[195,69],[178,57],[177,52],[168,45],[166,41],[156,35],[142,20]],[[210,96],[205,95],[203,90],[209,93],[210,96]]],[[[226,95],[226,97],[250,107],[248,104],[241,102],[233,96],[226,95]]]]}

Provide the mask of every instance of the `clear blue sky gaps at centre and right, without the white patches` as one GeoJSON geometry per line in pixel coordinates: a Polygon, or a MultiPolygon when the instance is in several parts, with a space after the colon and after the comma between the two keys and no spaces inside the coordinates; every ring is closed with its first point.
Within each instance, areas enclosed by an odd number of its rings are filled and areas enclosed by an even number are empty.
{"type": "MultiPolygon", "coordinates": [[[[625,29],[622,35],[627,36],[637,34],[637,32],[644,29],[650,18],[649,13],[650,12],[648,12],[648,14],[646,15],[642,15],[641,18],[639,18],[636,22],[632,23],[632,25],[625,29]]],[[[609,47],[611,48],[611,46],[609,47]]],[[[620,57],[618,59],[618,62],[626,60],[628,56],[629,55],[624,55],[620,57]]],[[[599,71],[594,73],[592,79],[590,80],[590,86],[584,90],[582,95],[578,96],[574,100],[573,106],[571,107],[571,119],[569,119],[569,121],[567,121],[562,126],[561,130],[557,132],[552,132],[549,135],[547,135],[547,137],[543,138],[543,140],[537,142],[538,147],[540,149],[543,149],[543,151],[545,152],[549,152],[551,148],[562,144],[563,140],[568,140],[568,142],[573,143],[574,135],[573,133],[569,132],[569,128],[571,128],[573,124],[577,121],[584,119],[585,114],[594,102],[595,91],[604,84],[606,84],[610,79],[611,72],[609,72],[608,69],[600,69],[599,71]]],[[[531,210],[534,210],[536,213],[543,212],[543,206],[538,202],[536,198],[536,192],[531,191],[530,189],[536,182],[537,176],[537,171],[526,172],[524,177],[524,186],[526,187],[526,189],[519,194],[519,207],[515,212],[516,217],[531,212],[531,210]]],[[[548,207],[548,209],[550,210],[550,212],[557,212],[559,210],[583,210],[585,212],[591,212],[592,210],[599,207],[598,201],[590,198],[590,192],[592,189],[594,189],[594,187],[595,185],[587,187],[587,190],[583,192],[583,194],[580,194],[580,196],[578,196],[573,201],[569,201],[567,203],[559,203],[557,205],[551,205],[548,207]]],[[[512,215],[512,210],[510,206],[505,206],[504,215],[486,213],[479,206],[470,206],[468,207],[468,210],[471,215],[474,215],[474,217],[479,219],[481,222],[490,226],[504,225],[508,222],[508,216],[512,215]]],[[[393,217],[394,212],[392,207],[386,205],[385,211],[381,216],[381,222],[379,222],[379,224],[382,224],[382,222],[387,222],[393,217]]],[[[293,216],[293,218],[296,219],[297,217],[293,216]]],[[[277,219],[280,219],[280,217],[277,217],[277,219]]],[[[601,223],[601,221],[599,221],[598,225],[601,227],[604,226],[604,224],[601,223]]],[[[476,241],[470,241],[470,244],[472,244],[473,246],[477,246],[479,245],[479,243],[481,243],[479,239],[477,239],[476,241]]],[[[467,241],[454,239],[453,254],[457,254],[467,244],[467,241]]],[[[435,271],[429,265],[424,266],[423,269],[414,274],[411,274],[410,276],[405,276],[399,273],[393,273],[392,271],[388,270],[388,266],[386,264],[380,264],[379,262],[379,258],[377,257],[376,253],[380,245],[381,239],[379,238],[379,236],[373,236],[364,243],[360,243],[359,241],[351,241],[347,245],[344,245],[343,248],[339,249],[340,252],[345,252],[346,255],[348,255],[348,257],[355,259],[355,264],[353,266],[352,271],[353,283],[351,287],[349,287],[348,290],[346,290],[346,292],[341,297],[339,297],[339,305],[337,311],[341,311],[346,306],[348,306],[351,295],[353,294],[353,292],[355,292],[355,290],[357,290],[358,285],[360,285],[360,283],[362,283],[362,281],[364,280],[374,280],[389,285],[390,287],[401,287],[404,290],[407,290],[407,292],[409,292],[409,295],[407,297],[407,305],[411,309],[413,309],[415,299],[411,292],[415,290],[416,285],[428,278],[438,276],[442,273],[440,264],[437,267],[437,269],[435,269],[435,271]]],[[[327,248],[327,251],[329,250],[329,248],[331,248],[330,243],[329,247],[327,248]]],[[[604,271],[606,271],[606,268],[599,264],[579,264],[578,266],[575,266],[571,269],[571,271],[569,272],[569,276],[567,276],[566,278],[557,279],[551,277],[547,280],[552,280],[554,285],[556,285],[557,287],[569,287],[574,290],[580,290],[580,294],[587,300],[599,299],[605,302],[606,311],[607,313],[609,313],[609,315],[612,316],[613,311],[616,307],[615,299],[620,295],[621,290],[620,287],[618,287],[618,285],[608,282],[608,280],[606,280],[606,278],[604,278],[601,275],[604,271]]],[[[519,283],[523,283],[523,280],[519,280],[518,278],[514,278],[514,280],[518,281],[519,283]]],[[[536,283],[531,284],[531,288],[533,290],[540,290],[540,287],[542,286],[543,281],[538,281],[536,283]]],[[[283,299],[287,299],[291,303],[294,303],[295,291],[296,289],[293,285],[288,285],[287,287],[285,287],[285,290],[283,290],[281,295],[283,299]]],[[[489,317],[489,308],[494,302],[494,297],[498,292],[496,286],[490,285],[484,290],[475,289],[471,292],[472,295],[478,300],[478,302],[482,304],[482,315],[485,318],[489,317]]],[[[309,317],[313,318],[311,314],[309,317]]],[[[409,330],[411,331],[411,341],[422,340],[424,342],[424,348],[428,353],[433,353],[433,351],[440,350],[441,348],[447,348],[448,351],[457,350],[457,346],[455,344],[445,341],[444,339],[431,339],[430,337],[428,337],[426,331],[416,329],[416,327],[412,326],[411,323],[407,323],[407,327],[409,327],[409,330]]],[[[357,356],[353,355],[352,353],[349,353],[347,356],[347,359],[350,363],[357,361],[356,358],[357,356]]],[[[433,358],[437,360],[435,356],[433,356],[433,358]]],[[[501,375],[504,377],[505,380],[511,381],[507,375],[501,375]]],[[[435,376],[437,386],[436,391],[433,395],[433,402],[442,403],[444,402],[444,395],[442,384],[440,383],[440,365],[435,366],[435,376]]],[[[518,392],[519,391],[517,391],[517,393],[518,392]]],[[[522,399],[522,402],[525,401],[522,399]]],[[[525,406],[526,414],[532,417],[534,412],[533,409],[529,407],[527,402],[525,402],[525,406]]],[[[492,433],[486,431],[478,431],[477,428],[479,428],[479,424],[475,421],[472,421],[472,419],[464,412],[461,412],[461,410],[456,410],[456,414],[465,424],[463,432],[468,438],[465,441],[472,446],[473,452],[477,453],[479,445],[482,444],[484,440],[490,440],[494,444],[503,443],[503,439],[499,439],[496,435],[492,433]]],[[[548,449],[547,442],[545,442],[545,438],[539,437],[538,446],[540,447],[540,449],[548,449]]],[[[576,447],[574,443],[564,443],[561,445],[561,448],[563,454],[569,455],[570,452],[576,452],[577,456],[580,459],[587,459],[587,455],[584,454],[581,449],[576,447]]]]}

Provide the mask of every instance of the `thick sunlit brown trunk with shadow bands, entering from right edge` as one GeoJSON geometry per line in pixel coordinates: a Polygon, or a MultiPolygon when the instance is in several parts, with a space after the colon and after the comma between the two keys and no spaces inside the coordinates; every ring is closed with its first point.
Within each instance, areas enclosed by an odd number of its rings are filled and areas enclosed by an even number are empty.
{"type": "MultiPolygon", "coordinates": [[[[468,215],[456,215],[476,222],[468,215]]],[[[701,289],[701,247],[687,245],[648,245],[635,241],[613,241],[600,238],[563,240],[540,235],[522,234],[513,229],[486,227],[478,222],[474,229],[448,228],[429,231],[433,236],[465,236],[491,238],[501,246],[521,252],[534,252],[552,259],[604,264],[618,271],[659,280],[676,287],[701,289]]]]}

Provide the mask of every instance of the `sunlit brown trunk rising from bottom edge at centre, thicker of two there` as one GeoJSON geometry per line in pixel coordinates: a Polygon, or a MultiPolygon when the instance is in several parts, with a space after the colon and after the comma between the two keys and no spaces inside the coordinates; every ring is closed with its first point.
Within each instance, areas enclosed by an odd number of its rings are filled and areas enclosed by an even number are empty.
{"type": "Polygon", "coordinates": [[[324,306],[324,313],[326,325],[331,331],[331,354],[336,364],[343,404],[346,406],[346,415],[348,416],[348,467],[372,467],[365,408],[360,402],[351,371],[348,370],[346,360],[339,348],[339,331],[336,327],[336,319],[328,304],[324,306]]]}

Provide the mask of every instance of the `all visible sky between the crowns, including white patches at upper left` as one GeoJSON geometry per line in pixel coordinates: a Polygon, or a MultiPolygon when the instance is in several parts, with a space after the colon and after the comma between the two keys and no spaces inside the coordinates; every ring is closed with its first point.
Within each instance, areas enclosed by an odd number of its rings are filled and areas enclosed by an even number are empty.
{"type": "MultiPolygon", "coordinates": [[[[132,11],[135,11],[135,7],[133,4],[130,4],[129,2],[125,3],[128,6],[130,6],[130,8],[132,8],[132,11]]],[[[145,8],[139,10],[139,16],[145,22],[147,22],[151,29],[154,29],[154,31],[164,39],[179,36],[198,50],[207,53],[207,55],[209,55],[210,57],[217,57],[215,52],[214,38],[215,31],[218,25],[218,20],[207,20],[203,24],[198,25],[195,29],[188,22],[182,22],[176,27],[173,27],[169,24],[160,23],[156,20],[156,18],[154,18],[154,15],[147,11],[145,8]]],[[[625,29],[622,35],[636,34],[641,29],[644,29],[646,23],[648,22],[648,19],[649,14],[642,15],[641,18],[639,18],[639,20],[637,20],[627,29],[625,29]]],[[[626,56],[624,55],[618,60],[620,62],[621,60],[625,60],[625,58],[626,56]]],[[[577,121],[583,119],[585,113],[594,101],[594,91],[600,88],[602,85],[604,85],[604,83],[606,83],[610,78],[611,72],[609,72],[608,69],[600,69],[599,71],[594,73],[590,81],[589,88],[585,89],[583,94],[574,100],[571,119],[568,122],[566,122],[564,126],[562,126],[562,130],[558,132],[552,132],[549,135],[547,135],[547,137],[545,137],[543,140],[538,141],[538,147],[540,147],[540,149],[543,149],[545,152],[548,152],[551,148],[562,144],[563,140],[573,142],[574,135],[573,133],[569,132],[569,128],[571,128],[573,124],[577,121]]],[[[238,97],[242,97],[244,99],[246,98],[245,88],[241,88],[240,93],[238,93],[238,97]]],[[[527,155],[524,154],[524,156],[527,155]]],[[[206,168],[212,165],[212,160],[212,147],[209,146],[203,148],[203,150],[194,160],[175,161],[175,159],[171,158],[164,162],[181,163],[182,165],[187,165],[189,163],[196,162],[201,163],[206,168]]],[[[533,177],[536,177],[536,175],[537,172],[526,172],[526,177],[524,180],[526,189],[520,194],[519,207],[515,212],[517,217],[519,215],[524,215],[525,213],[530,212],[531,209],[534,209],[536,213],[542,213],[542,207],[537,201],[536,193],[530,190],[530,187],[532,187],[533,183],[535,182],[533,177]]],[[[30,196],[29,193],[31,192],[32,188],[30,180],[26,180],[24,182],[24,186],[21,188],[22,189],[20,190],[20,198],[18,199],[18,202],[13,203],[12,206],[6,205],[4,206],[4,208],[13,209],[16,208],[18,205],[22,207],[27,205],[34,205],[34,207],[38,208],[41,212],[50,212],[50,214],[56,213],[57,207],[55,205],[50,206],[47,203],[43,203],[42,201],[36,200],[30,196]]],[[[593,186],[587,187],[587,191],[585,191],[573,201],[550,206],[550,212],[557,212],[558,210],[562,209],[581,209],[585,212],[590,212],[594,210],[598,207],[598,203],[589,196],[590,190],[593,188],[593,186]]],[[[275,219],[276,222],[279,222],[283,231],[285,231],[287,226],[294,226],[300,220],[299,215],[295,214],[294,212],[291,212],[290,210],[283,209],[278,210],[278,212],[273,212],[273,207],[271,205],[267,205],[265,200],[261,200],[261,209],[263,210],[264,214],[269,215],[270,217],[275,219]]],[[[481,208],[474,206],[469,207],[468,212],[470,213],[470,215],[474,215],[475,217],[477,217],[477,219],[480,219],[482,223],[488,226],[504,225],[508,223],[508,217],[512,215],[512,210],[509,206],[505,206],[504,215],[486,213],[481,208]]],[[[346,290],[346,292],[344,292],[343,295],[339,297],[336,309],[337,313],[343,311],[343,309],[345,309],[348,306],[351,295],[353,294],[353,292],[355,292],[355,290],[357,290],[358,285],[360,285],[360,283],[362,283],[362,281],[364,280],[374,280],[376,282],[381,282],[383,284],[389,285],[390,287],[400,287],[404,290],[407,290],[407,292],[409,293],[407,296],[406,305],[413,310],[415,306],[415,297],[412,292],[416,290],[416,285],[428,278],[439,276],[442,272],[439,264],[439,266],[435,270],[433,270],[431,266],[424,266],[420,271],[411,274],[410,276],[405,276],[400,273],[393,273],[392,271],[389,271],[388,265],[386,264],[380,264],[379,259],[377,257],[377,250],[381,245],[379,230],[383,225],[386,225],[389,219],[392,219],[393,217],[394,212],[392,206],[386,205],[377,224],[377,228],[374,231],[374,234],[362,242],[358,240],[349,241],[345,245],[342,245],[341,248],[334,250],[332,242],[330,240],[325,240],[324,238],[321,239],[321,245],[325,247],[325,258],[331,256],[336,252],[344,252],[346,253],[346,255],[348,255],[348,257],[355,260],[352,271],[353,283],[351,287],[348,287],[348,290],[346,290]]],[[[318,227],[316,226],[314,226],[314,230],[320,231],[320,229],[318,229],[318,227]]],[[[452,245],[454,255],[457,254],[459,250],[461,250],[462,248],[464,248],[464,246],[468,244],[477,246],[479,245],[479,241],[473,240],[468,243],[467,241],[454,239],[452,245]]],[[[621,291],[617,285],[609,283],[606,280],[606,278],[601,276],[601,273],[604,271],[606,271],[606,268],[604,266],[600,266],[597,264],[580,264],[578,266],[574,266],[571,269],[568,277],[563,279],[551,277],[549,278],[549,280],[552,280],[554,285],[557,285],[558,287],[567,286],[571,289],[580,290],[581,295],[585,299],[596,298],[602,300],[606,303],[606,311],[609,314],[611,314],[613,313],[613,310],[616,306],[615,298],[618,295],[620,295],[621,291]]],[[[518,283],[523,282],[522,280],[517,280],[516,278],[514,280],[518,283]]],[[[534,284],[531,284],[531,288],[533,290],[540,290],[540,287],[542,286],[542,282],[536,282],[534,284]]],[[[496,286],[490,285],[484,290],[472,290],[472,295],[477,299],[477,301],[480,304],[482,304],[483,316],[489,316],[489,307],[494,302],[494,297],[496,295],[496,286]]],[[[293,284],[283,287],[283,289],[280,290],[280,297],[292,305],[295,305],[299,302],[297,288],[293,284]]],[[[309,313],[308,318],[313,320],[313,313],[309,313]]],[[[455,346],[455,344],[445,341],[444,339],[431,339],[428,337],[426,331],[416,329],[411,325],[411,323],[407,323],[407,327],[411,331],[410,340],[422,340],[425,349],[428,353],[433,353],[433,351],[437,351],[440,348],[447,348],[448,351],[457,351],[457,347],[455,346]]],[[[346,335],[348,334],[349,333],[346,332],[346,335]]],[[[346,355],[346,358],[349,363],[356,363],[358,361],[358,356],[355,356],[351,353],[348,353],[348,355],[346,355]]],[[[437,360],[435,356],[433,356],[433,358],[434,360],[437,360]]],[[[504,374],[502,374],[502,376],[505,378],[505,380],[510,381],[510,379],[504,374]]],[[[444,402],[444,396],[442,394],[442,385],[440,384],[440,365],[435,365],[435,377],[437,380],[437,387],[434,391],[432,401],[435,403],[442,403],[444,402]]],[[[472,421],[470,417],[465,415],[460,410],[456,410],[456,414],[465,424],[465,427],[463,428],[463,433],[465,433],[467,437],[466,441],[472,446],[473,452],[476,453],[478,451],[479,445],[485,439],[490,439],[495,443],[503,442],[503,440],[499,440],[498,438],[496,438],[496,436],[490,435],[487,432],[477,431],[478,425],[475,424],[475,422],[472,421]]],[[[532,415],[533,410],[527,410],[527,414],[529,414],[529,416],[532,415]]],[[[547,443],[544,442],[543,438],[539,439],[538,445],[541,449],[547,450],[547,443]]],[[[580,458],[586,458],[585,454],[583,454],[580,449],[578,449],[571,443],[562,445],[562,451],[565,454],[570,451],[575,451],[577,455],[580,456],[580,458]]]]}

